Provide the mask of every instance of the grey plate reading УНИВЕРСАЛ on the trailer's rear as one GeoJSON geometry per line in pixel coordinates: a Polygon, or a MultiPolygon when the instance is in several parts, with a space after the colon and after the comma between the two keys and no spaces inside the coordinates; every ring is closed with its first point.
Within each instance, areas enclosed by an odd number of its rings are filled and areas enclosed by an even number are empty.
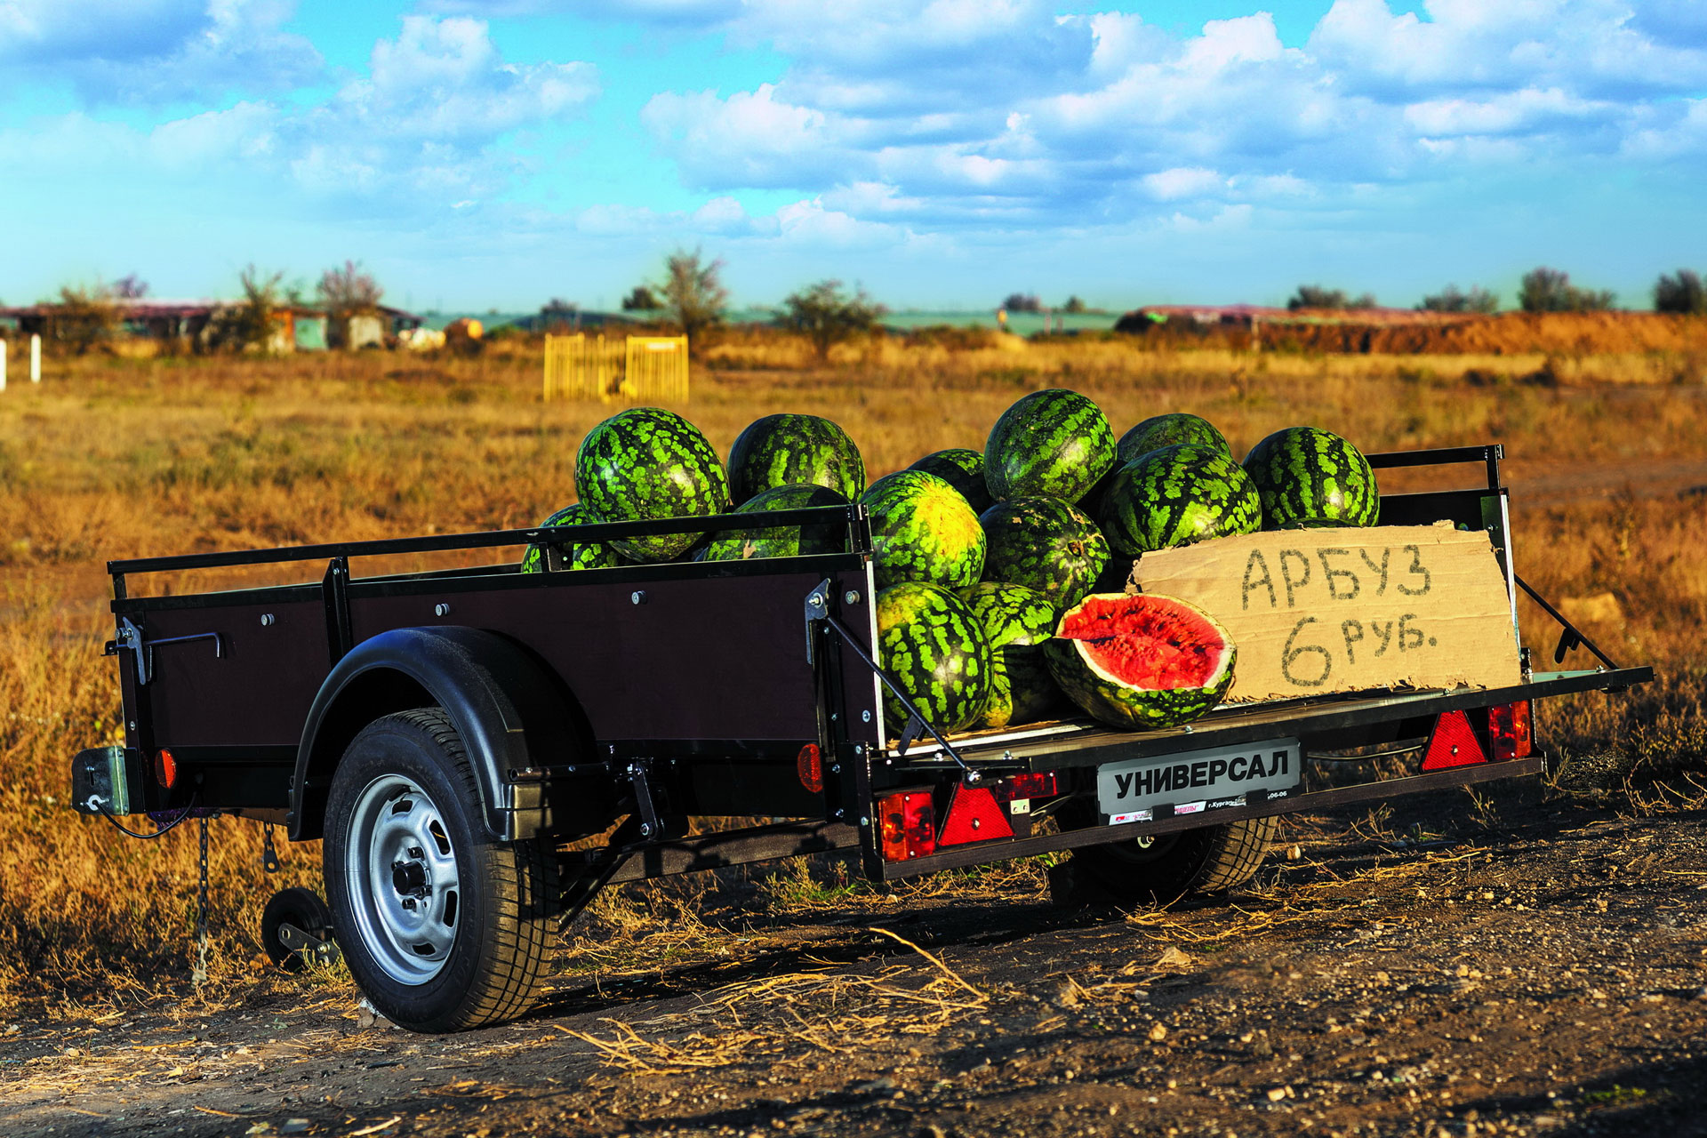
{"type": "Polygon", "coordinates": [[[1297,739],[1270,739],[1110,763],[1096,771],[1096,805],[1110,822],[1149,821],[1159,805],[1171,805],[1174,814],[1244,805],[1251,790],[1297,787],[1302,758],[1297,739]]]}

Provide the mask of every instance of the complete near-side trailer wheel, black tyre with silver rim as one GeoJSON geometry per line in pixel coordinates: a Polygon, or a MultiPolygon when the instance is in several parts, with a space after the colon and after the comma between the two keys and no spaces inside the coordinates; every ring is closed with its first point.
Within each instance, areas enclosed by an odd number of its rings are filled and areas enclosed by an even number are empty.
{"type": "Polygon", "coordinates": [[[486,838],[444,711],[387,715],[350,742],[326,804],[324,862],[338,945],[381,1015],[444,1032],[533,1003],[556,862],[539,841],[486,838]]]}

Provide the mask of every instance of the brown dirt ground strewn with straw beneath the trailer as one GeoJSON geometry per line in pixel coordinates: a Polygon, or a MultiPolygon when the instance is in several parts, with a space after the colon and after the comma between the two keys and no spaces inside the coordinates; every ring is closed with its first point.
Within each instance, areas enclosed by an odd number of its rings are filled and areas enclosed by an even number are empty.
{"type": "Polygon", "coordinates": [[[1052,903],[1036,865],[784,913],[753,904],[763,879],[712,880],[703,923],[661,911],[625,938],[584,918],[545,1003],[490,1031],[408,1034],[300,981],[9,1024],[0,1118],[9,1136],[1707,1133],[1704,814],[1613,802],[1492,783],[1292,819],[1255,882],[1164,913],[1052,903]]]}

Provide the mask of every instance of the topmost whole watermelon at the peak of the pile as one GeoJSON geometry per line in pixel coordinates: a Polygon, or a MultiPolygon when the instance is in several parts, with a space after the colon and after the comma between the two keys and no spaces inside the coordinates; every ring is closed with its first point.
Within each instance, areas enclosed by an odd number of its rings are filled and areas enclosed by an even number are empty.
{"type": "Polygon", "coordinates": [[[1002,411],[983,447],[983,481],[997,502],[1050,495],[1077,502],[1115,464],[1115,432],[1077,391],[1033,391],[1002,411]]]}

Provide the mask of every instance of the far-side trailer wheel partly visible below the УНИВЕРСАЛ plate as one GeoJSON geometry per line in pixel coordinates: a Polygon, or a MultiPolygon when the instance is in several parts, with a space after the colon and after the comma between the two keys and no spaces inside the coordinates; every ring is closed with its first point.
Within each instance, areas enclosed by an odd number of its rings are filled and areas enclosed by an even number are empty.
{"type": "Polygon", "coordinates": [[[1156,838],[1132,838],[1074,851],[1082,884],[1120,904],[1168,904],[1188,892],[1232,889],[1261,867],[1279,819],[1246,817],[1156,838]]]}

